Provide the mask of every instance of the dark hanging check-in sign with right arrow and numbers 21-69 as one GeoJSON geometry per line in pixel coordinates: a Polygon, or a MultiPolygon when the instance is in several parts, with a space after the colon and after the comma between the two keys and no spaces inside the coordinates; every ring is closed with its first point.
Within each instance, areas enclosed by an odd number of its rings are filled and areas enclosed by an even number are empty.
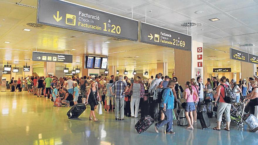
{"type": "Polygon", "coordinates": [[[191,51],[192,36],[141,22],[141,42],[191,51]]]}

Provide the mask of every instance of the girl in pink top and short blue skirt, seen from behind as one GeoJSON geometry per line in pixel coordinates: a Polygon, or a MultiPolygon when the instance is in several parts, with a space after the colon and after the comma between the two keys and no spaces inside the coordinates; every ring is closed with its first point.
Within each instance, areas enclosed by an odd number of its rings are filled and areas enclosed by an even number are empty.
{"type": "Polygon", "coordinates": [[[192,89],[191,83],[189,81],[186,82],[185,87],[186,87],[185,95],[184,95],[184,98],[186,99],[185,115],[188,121],[188,127],[186,129],[193,129],[193,111],[196,110],[194,100],[193,100],[193,95],[198,96],[198,94],[196,91],[192,89]]]}

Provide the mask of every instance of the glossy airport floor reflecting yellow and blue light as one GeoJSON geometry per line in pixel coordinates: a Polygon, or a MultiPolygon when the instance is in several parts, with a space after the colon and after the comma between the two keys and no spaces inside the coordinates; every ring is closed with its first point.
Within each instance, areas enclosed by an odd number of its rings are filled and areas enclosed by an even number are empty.
{"type": "MultiPolygon", "coordinates": [[[[37,98],[26,92],[0,92],[0,144],[1,145],[54,145],[54,144],[258,144],[258,133],[249,127],[239,129],[232,123],[230,132],[215,131],[215,119],[209,129],[202,130],[197,123],[194,130],[174,126],[176,134],[159,134],[152,125],[137,134],[134,125],[138,119],[114,120],[114,113],[97,115],[99,121],[89,121],[89,109],[77,119],[68,119],[69,108],[53,107],[49,99],[37,98]]],[[[174,124],[176,122],[174,121],[174,124]]]]}

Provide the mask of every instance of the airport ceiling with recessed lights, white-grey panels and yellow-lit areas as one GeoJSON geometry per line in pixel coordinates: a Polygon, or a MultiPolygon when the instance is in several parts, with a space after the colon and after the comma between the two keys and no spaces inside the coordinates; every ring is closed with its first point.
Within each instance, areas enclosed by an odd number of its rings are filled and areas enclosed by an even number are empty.
{"type": "MultiPolygon", "coordinates": [[[[188,28],[192,39],[203,42],[204,65],[232,67],[239,72],[240,62],[229,59],[229,48],[257,54],[258,49],[258,0],[68,0],[102,11],[187,33],[181,26],[185,22],[197,25],[188,28]],[[210,21],[219,18],[219,21],[210,21]],[[247,46],[240,46],[247,45],[247,46]]],[[[174,69],[174,49],[155,45],[119,40],[113,37],[82,33],[74,30],[36,23],[37,10],[18,6],[16,3],[37,7],[37,0],[0,0],[0,59],[3,63],[22,66],[42,62],[32,62],[32,51],[70,53],[73,64],[81,66],[82,54],[108,55],[109,65],[119,69],[153,69],[157,62],[169,63],[169,71],[174,69]],[[23,31],[24,28],[30,32],[23,31]],[[111,43],[104,43],[110,41],[111,43]],[[4,43],[10,42],[10,43],[4,43]],[[72,50],[75,49],[75,50],[72,50]]],[[[57,63],[63,66],[65,64],[57,63]]]]}

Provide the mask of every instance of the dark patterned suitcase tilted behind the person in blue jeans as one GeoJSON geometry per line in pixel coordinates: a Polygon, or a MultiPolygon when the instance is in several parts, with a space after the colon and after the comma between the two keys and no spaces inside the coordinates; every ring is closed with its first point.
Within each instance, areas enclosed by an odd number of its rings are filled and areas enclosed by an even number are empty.
{"type": "Polygon", "coordinates": [[[142,117],[136,124],[135,129],[138,133],[142,133],[146,131],[152,124],[154,123],[154,119],[150,117],[150,115],[142,117]]]}

